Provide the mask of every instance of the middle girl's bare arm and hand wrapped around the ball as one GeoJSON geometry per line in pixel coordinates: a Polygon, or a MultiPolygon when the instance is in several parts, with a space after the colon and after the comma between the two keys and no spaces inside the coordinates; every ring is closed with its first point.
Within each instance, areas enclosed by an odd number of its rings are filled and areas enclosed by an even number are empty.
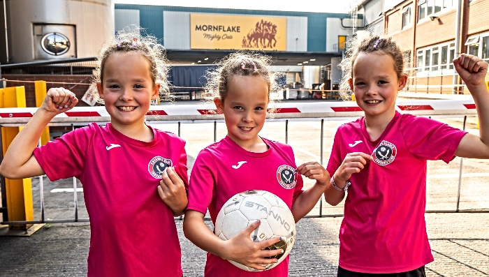
{"type": "Polygon", "coordinates": [[[184,217],[184,234],[189,241],[199,248],[218,255],[224,260],[233,260],[254,269],[265,269],[262,264],[278,262],[277,259],[268,259],[283,253],[282,249],[263,250],[263,248],[277,243],[280,238],[275,237],[265,241],[251,241],[250,234],[260,225],[259,220],[249,225],[245,230],[228,241],[217,237],[204,223],[204,214],[199,211],[187,210],[184,217]]]}

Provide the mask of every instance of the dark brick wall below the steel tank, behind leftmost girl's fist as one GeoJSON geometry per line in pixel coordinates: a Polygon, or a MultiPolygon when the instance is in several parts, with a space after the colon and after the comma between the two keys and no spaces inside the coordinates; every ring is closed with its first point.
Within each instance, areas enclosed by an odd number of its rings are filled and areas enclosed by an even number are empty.
{"type": "MultiPolygon", "coordinates": [[[[27,107],[36,107],[36,96],[34,91],[34,81],[46,81],[46,88],[64,87],[75,93],[80,100],[88,89],[88,84],[92,80],[92,75],[24,75],[24,74],[3,74],[1,77],[7,80],[7,87],[25,87],[25,98],[27,107]],[[16,81],[16,82],[13,82],[16,81]],[[20,81],[20,82],[17,82],[20,81]],[[28,82],[22,82],[28,81],[28,82]]],[[[87,103],[80,100],[77,107],[86,107],[87,103]]]]}

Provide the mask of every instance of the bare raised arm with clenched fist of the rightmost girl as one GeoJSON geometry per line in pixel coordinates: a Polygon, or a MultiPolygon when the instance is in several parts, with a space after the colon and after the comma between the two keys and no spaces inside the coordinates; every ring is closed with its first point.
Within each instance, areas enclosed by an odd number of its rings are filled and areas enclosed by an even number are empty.
{"type": "Polygon", "coordinates": [[[458,144],[455,156],[489,158],[489,93],[486,87],[488,63],[469,54],[460,54],[453,60],[455,70],[467,85],[479,117],[479,137],[467,133],[458,144]]]}

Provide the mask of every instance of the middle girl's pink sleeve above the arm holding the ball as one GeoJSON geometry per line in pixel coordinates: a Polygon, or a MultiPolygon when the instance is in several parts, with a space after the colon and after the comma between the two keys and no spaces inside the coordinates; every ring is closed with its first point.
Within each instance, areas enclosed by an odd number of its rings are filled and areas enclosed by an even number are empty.
{"type": "Polygon", "coordinates": [[[216,184],[217,167],[212,154],[203,149],[198,154],[190,174],[189,205],[187,209],[199,211],[202,214],[212,202],[214,184],[216,184]]]}

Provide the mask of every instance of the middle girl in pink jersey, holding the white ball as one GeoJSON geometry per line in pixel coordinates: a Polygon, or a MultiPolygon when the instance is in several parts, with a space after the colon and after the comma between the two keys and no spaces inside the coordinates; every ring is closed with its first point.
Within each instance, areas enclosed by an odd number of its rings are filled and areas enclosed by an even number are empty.
{"type": "Polygon", "coordinates": [[[227,136],[205,147],[196,158],[189,184],[189,206],[185,212],[184,234],[207,251],[205,276],[288,276],[289,257],[268,271],[244,271],[228,260],[254,269],[277,262],[267,258],[282,250],[263,250],[278,237],[254,242],[250,234],[260,225],[249,225],[238,235],[223,241],[209,230],[204,216],[209,210],[212,222],[223,204],[245,190],[268,190],[291,209],[295,221],[305,216],[330,184],[326,169],[317,162],[295,167],[289,145],[267,140],[258,133],[263,128],[270,103],[270,91],[278,88],[276,74],[268,70],[270,59],[261,54],[236,52],[221,61],[210,80],[217,110],[224,114],[227,136]],[[316,180],[302,190],[302,177],[316,180]]]}

